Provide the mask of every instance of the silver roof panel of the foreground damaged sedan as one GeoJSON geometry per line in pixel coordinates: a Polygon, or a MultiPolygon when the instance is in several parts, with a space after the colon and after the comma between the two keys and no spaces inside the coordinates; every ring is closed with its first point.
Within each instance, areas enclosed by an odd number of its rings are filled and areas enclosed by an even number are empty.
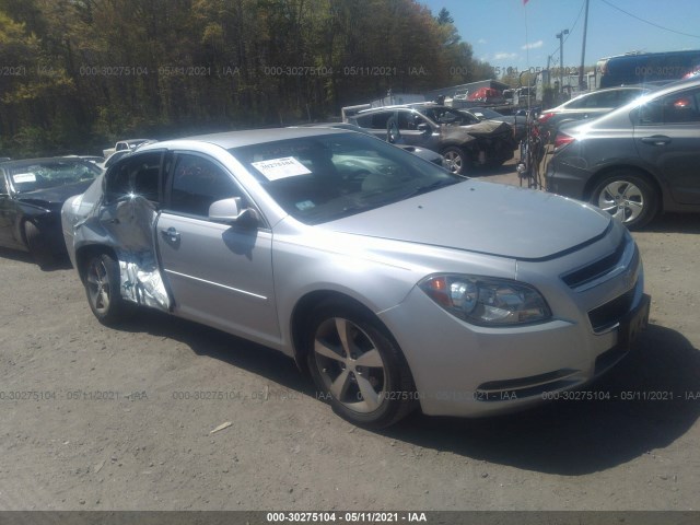
{"type": "Polygon", "coordinates": [[[203,142],[218,145],[224,150],[241,148],[244,145],[261,144],[278,140],[299,139],[303,137],[317,137],[325,135],[341,135],[350,132],[347,129],[338,128],[268,128],[248,129],[245,131],[224,131],[221,133],[198,135],[195,137],[183,137],[182,139],[165,140],[139,148],[141,151],[158,150],[162,148],[182,148],[191,142],[203,142]]]}

